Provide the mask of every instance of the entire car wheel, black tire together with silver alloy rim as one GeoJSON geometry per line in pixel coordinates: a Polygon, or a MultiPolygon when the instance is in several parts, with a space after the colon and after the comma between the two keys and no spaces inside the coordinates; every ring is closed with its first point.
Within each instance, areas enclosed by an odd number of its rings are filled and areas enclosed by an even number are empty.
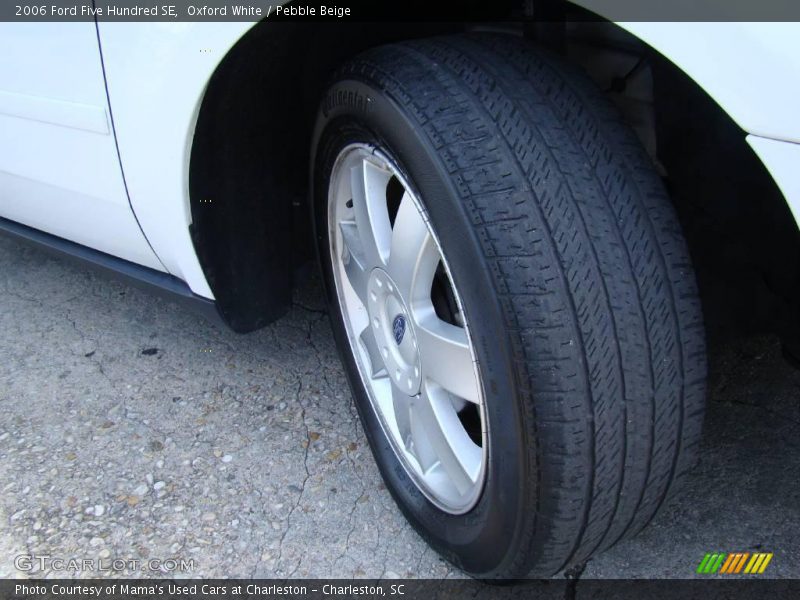
{"type": "Polygon", "coordinates": [[[413,41],[339,70],[312,152],[334,335],[412,525],[485,578],[640,530],[695,459],[703,325],[609,103],[521,39],[413,41]]]}

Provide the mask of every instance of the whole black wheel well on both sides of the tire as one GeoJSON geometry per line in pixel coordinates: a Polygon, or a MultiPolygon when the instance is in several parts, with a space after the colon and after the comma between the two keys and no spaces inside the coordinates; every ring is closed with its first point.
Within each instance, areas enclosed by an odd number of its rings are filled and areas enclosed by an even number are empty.
{"type": "MultiPolygon", "coordinates": [[[[582,66],[639,135],[675,202],[709,334],[800,331],[800,234],[745,132],[656,51],[612,23],[590,21],[511,29],[582,66]]],[[[372,46],[463,29],[260,23],[222,61],[192,146],[191,233],[236,331],[283,314],[311,258],[309,143],[336,67],[372,46]]]]}

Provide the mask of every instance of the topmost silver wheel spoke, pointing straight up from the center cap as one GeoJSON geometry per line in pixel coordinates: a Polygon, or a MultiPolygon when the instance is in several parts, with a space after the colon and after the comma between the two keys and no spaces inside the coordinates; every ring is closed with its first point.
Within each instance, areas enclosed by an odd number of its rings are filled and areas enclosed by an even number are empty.
{"type": "Polygon", "coordinates": [[[353,211],[360,242],[358,262],[367,272],[385,266],[389,257],[392,226],[386,206],[386,185],[391,177],[389,171],[366,159],[360,160],[350,170],[353,211]]]}

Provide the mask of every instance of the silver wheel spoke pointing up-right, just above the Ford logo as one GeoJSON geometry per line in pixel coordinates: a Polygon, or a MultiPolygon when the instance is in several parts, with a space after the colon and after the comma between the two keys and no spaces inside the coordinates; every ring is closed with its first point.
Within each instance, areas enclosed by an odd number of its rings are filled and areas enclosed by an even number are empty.
{"type": "Polygon", "coordinates": [[[414,200],[403,194],[392,230],[388,270],[408,302],[430,297],[439,260],[428,225],[414,200]]]}

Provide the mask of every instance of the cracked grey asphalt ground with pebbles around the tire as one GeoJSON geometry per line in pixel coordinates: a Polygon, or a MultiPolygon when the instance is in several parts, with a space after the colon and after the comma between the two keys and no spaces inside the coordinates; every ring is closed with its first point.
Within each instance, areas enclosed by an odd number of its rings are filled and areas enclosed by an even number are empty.
{"type": "MultiPolygon", "coordinates": [[[[0,238],[0,357],[2,577],[461,576],[381,482],[313,279],[241,336],[0,238]]],[[[754,550],[800,577],[800,372],[771,337],[710,360],[698,468],[584,578],[686,578],[706,552],[754,550]]]]}

